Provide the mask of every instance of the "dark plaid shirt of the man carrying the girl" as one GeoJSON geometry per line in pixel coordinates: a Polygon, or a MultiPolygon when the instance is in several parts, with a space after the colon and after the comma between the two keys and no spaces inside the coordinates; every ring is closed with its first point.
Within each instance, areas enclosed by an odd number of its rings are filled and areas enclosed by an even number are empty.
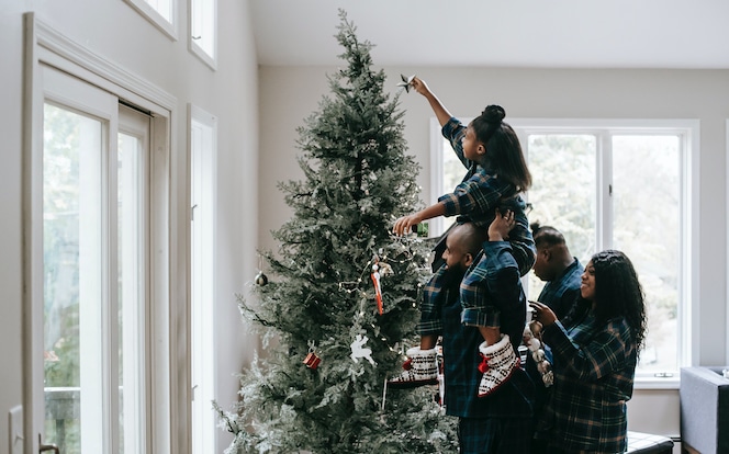
{"type": "MultiPolygon", "coordinates": [[[[511,337],[514,349],[521,340],[526,322],[526,297],[516,261],[508,252],[506,241],[491,241],[483,245],[485,253],[478,262],[489,279],[481,281],[480,295],[492,302],[500,302],[502,332],[511,337]]],[[[462,273],[444,273],[439,292],[442,297],[442,352],[445,376],[446,413],[461,418],[525,417],[531,418],[534,384],[524,370],[518,368],[512,378],[494,394],[478,397],[481,373],[479,344],[483,337],[475,327],[461,324],[462,273]]]]}

